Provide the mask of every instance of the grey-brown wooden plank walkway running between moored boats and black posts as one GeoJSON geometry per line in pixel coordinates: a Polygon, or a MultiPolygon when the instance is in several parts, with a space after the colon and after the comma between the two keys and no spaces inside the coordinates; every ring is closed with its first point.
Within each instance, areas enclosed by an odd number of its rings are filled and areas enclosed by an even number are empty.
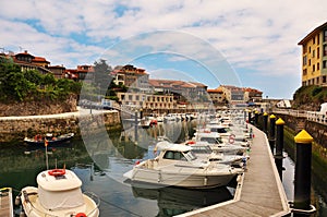
{"type": "Polygon", "coordinates": [[[247,171],[239,177],[240,182],[234,198],[179,215],[180,217],[290,216],[288,200],[268,140],[264,132],[252,128],[255,137],[247,161],[247,171]]]}

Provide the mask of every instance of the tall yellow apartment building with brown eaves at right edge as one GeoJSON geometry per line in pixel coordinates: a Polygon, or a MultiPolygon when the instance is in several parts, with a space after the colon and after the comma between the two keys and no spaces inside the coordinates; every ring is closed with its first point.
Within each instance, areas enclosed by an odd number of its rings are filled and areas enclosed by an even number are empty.
{"type": "Polygon", "coordinates": [[[327,86],[327,22],[298,45],[302,46],[302,86],[327,86]]]}

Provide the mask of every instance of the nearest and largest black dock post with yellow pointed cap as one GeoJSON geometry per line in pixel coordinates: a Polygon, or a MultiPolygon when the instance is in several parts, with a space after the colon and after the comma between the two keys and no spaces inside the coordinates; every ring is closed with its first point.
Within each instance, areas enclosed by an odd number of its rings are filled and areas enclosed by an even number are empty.
{"type": "Polygon", "coordinates": [[[302,130],[294,136],[296,143],[294,202],[292,212],[295,216],[308,216],[316,209],[311,203],[311,158],[313,137],[302,130]]]}

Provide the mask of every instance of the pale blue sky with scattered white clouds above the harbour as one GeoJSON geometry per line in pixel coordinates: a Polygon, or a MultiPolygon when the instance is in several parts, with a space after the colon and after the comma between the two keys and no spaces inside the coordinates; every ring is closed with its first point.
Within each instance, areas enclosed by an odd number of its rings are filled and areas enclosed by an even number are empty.
{"type": "Polygon", "coordinates": [[[326,0],[0,1],[0,52],[74,69],[105,59],[149,79],[252,87],[292,99],[298,43],[327,21],[326,0]]]}

